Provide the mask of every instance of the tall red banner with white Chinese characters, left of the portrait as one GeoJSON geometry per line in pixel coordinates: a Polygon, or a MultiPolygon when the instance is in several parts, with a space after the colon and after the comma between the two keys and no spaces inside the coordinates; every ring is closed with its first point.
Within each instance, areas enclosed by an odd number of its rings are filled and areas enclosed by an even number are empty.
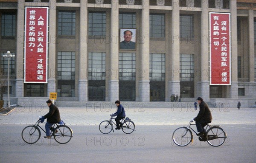
{"type": "Polygon", "coordinates": [[[25,83],[47,83],[48,10],[48,7],[25,8],[25,83]]]}

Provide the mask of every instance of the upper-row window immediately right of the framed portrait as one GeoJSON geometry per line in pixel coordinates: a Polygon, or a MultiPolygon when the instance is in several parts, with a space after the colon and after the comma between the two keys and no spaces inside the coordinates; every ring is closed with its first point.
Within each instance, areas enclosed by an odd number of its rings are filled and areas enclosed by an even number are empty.
{"type": "Polygon", "coordinates": [[[165,15],[149,15],[150,37],[165,37],[165,15]]]}

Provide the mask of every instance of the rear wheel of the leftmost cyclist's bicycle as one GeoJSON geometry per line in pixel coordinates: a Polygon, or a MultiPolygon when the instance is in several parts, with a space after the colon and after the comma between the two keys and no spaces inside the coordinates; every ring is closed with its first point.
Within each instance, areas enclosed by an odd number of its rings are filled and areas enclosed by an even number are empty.
{"type": "Polygon", "coordinates": [[[54,130],[53,137],[58,143],[66,144],[72,138],[72,133],[72,130],[68,126],[60,125],[54,130]]]}

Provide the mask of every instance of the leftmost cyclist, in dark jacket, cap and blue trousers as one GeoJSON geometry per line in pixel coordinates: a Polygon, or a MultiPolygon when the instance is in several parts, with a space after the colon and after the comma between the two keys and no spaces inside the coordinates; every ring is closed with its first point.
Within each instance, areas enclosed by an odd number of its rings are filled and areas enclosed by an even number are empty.
{"type": "Polygon", "coordinates": [[[61,116],[58,107],[52,104],[51,100],[46,101],[46,103],[49,107],[49,112],[46,115],[42,116],[40,120],[41,122],[43,122],[44,119],[47,118],[47,122],[45,124],[46,136],[44,136],[44,138],[51,138],[50,130],[53,131],[52,125],[60,122],[61,116]]]}

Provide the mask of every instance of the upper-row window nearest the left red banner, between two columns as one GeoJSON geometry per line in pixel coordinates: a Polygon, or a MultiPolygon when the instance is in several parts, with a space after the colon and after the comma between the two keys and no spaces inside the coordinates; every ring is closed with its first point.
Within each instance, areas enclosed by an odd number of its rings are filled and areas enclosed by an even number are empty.
{"type": "Polygon", "coordinates": [[[76,11],[58,12],[58,35],[76,34],[76,11]]]}

